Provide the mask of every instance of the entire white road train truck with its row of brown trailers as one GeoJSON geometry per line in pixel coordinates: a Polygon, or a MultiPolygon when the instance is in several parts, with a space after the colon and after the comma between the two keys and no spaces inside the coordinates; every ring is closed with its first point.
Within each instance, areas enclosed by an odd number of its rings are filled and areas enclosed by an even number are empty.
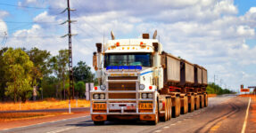
{"type": "Polygon", "coordinates": [[[152,39],[115,39],[111,32],[111,40],[95,44],[95,125],[116,119],[157,124],[208,106],[207,70],[163,51],[156,33],[152,39]]]}

